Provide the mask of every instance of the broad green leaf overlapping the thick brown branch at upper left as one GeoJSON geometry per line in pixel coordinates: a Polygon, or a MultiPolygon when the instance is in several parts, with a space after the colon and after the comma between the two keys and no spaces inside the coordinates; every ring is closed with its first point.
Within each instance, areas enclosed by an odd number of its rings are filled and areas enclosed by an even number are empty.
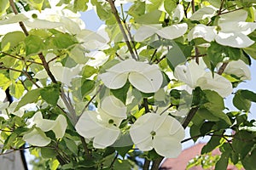
{"type": "Polygon", "coordinates": [[[25,39],[26,55],[38,54],[44,49],[44,39],[29,35],[25,39]]]}

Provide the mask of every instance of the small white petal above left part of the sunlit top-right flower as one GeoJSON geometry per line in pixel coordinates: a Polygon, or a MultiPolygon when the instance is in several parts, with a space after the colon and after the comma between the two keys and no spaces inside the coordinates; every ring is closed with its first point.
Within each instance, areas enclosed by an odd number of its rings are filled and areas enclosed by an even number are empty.
{"type": "Polygon", "coordinates": [[[206,18],[212,18],[215,14],[215,9],[211,7],[204,7],[198,9],[192,16],[189,18],[190,20],[204,20],[206,18]]]}

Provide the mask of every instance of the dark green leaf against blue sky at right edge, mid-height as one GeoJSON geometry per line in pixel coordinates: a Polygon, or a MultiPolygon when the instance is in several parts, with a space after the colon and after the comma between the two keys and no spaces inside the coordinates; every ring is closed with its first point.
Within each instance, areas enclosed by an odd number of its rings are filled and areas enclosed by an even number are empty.
{"type": "Polygon", "coordinates": [[[240,111],[250,111],[252,104],[250,100],[244,98],[244,96],[241,94],[241,90],[238,90],[233,98],[233,105],[235,105],[240,111]]]}

